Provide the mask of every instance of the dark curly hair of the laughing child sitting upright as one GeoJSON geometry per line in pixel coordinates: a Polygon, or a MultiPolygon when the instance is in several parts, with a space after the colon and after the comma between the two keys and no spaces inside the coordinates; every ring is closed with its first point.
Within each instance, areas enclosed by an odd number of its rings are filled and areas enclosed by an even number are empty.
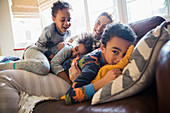
{"type": "Polygon", "coordinates": [[[53,17],[55,17],[55,14],[58,12],[58,10],[72,9],[72,8],[68,2],[58,0],[57,2],[53,3],[51,9],[52,9],[51,14],[53,17]]]}

